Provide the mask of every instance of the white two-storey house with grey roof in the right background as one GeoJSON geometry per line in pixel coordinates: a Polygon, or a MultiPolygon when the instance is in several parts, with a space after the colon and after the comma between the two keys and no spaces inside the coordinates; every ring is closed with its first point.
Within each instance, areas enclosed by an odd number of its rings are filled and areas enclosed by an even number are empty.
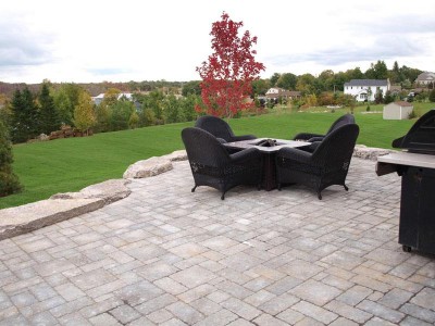
{"type": "Polygon", "coordinates": [[[383,96],[389,90],[389,79],[352,79],[345,83],[345,95],[351,95],[358,102],[374,101],[376,92],[383,96]],[[369,98],[370,93],[370,98],[369,98]]]}

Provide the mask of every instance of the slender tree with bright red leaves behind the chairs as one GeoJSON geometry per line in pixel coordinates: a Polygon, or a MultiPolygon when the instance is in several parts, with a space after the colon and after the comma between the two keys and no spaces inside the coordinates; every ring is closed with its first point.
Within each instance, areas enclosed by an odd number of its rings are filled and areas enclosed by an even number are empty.
{"type": "Polygon", "coordinates": [[[202,78],[200,84],[203,106],[196,106],[198,112],[215,116],[231,117],[238,111],[248,109],[252,103],[246,101],[250,96],[252,80],[259,78],[264,65],[253,58],[257,54],[252,45],[257,37],[246,30],[241,38],[238,29],[243,22],[234,22],[225,12],[222,20],[212,24],[211,48],[213,53],[208,62],[202,62],[197,72],[202,78]]]}

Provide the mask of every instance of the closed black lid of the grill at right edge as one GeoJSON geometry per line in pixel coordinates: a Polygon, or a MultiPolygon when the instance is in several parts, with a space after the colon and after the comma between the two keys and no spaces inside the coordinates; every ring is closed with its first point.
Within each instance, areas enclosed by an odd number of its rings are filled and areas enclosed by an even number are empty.
{"type": "Polygon", "coordinates": [[[435,155],[435,109],[422,115],[403,137],[393,140],[394,148],[435,155]]]}

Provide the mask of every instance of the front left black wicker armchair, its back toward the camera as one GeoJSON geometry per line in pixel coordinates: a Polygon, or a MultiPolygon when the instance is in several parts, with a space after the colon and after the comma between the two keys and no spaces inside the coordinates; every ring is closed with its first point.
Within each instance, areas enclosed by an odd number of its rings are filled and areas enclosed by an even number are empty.
{"type": "Polygon", "coordinates": [[[234,154],[226,151],[216,137],[200,128],[185,128],[182,131],[195,179],[194,192],[198,186],[210,186],[225,192],[238,185],[261,187],[262,153],[256,148],[234,154]]]}

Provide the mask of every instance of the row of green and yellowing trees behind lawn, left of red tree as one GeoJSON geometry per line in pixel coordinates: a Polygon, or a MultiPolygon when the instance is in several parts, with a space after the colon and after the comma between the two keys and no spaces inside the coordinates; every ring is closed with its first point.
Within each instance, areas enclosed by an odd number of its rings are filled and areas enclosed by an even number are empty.
{"type": "Polygon", "coordinates": [[[197,117],[195,105],[200,101],[195,92],[179,96],[164,88],[136,92],[133,99],[127,99],[121,96],[120,89],[109,88],[103,100],[96,104],[79,85],[62,84],[54,88],[46,80],[38,92],[32,92],[27,87],[16,89],[12,99],[0,109],[0,120],[14,143],[28,141],[40,134],[50,135],[62,126],[86,134],[90,129],[105,133],[194,121],[197,117]]]}

